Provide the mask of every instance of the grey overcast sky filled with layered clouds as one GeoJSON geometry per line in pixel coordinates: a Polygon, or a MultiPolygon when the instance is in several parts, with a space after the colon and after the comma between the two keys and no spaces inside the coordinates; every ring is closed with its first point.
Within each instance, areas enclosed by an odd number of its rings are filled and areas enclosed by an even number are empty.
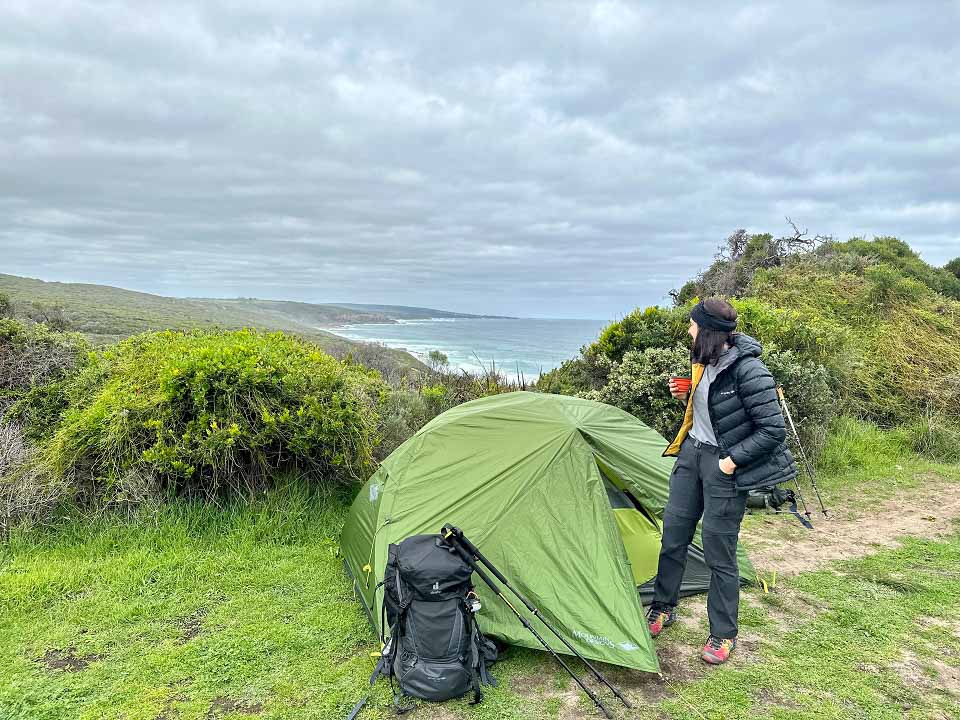
{"type": "Polygon", "coordinates": [[[960,3],[0,3],[0,272],[606,319],[786,215],[960,255],[960,3]]]}

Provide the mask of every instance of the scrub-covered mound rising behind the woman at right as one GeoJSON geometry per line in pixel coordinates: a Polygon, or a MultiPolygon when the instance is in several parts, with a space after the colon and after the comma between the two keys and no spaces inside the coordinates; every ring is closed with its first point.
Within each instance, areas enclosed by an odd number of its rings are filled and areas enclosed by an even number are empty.
{"type": "Polygon", "coordinates": [[[674,295],[635,310],[541,378],[546,392],[623,407],[661,433],[682,407],[666,378],[689,368],[697,298],[725,295],[764,346],[809,449],[837,415],[898,427],[917,451],[960,455],[960,283],[895,238],[835,242],[797,233],[734,233],[715,262],[674,295]]]}

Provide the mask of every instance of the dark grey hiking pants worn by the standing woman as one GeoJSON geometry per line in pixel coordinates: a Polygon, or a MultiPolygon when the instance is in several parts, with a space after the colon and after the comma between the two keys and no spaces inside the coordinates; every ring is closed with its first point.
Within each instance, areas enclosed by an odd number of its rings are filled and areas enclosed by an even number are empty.
{"type": "Polygon", "coordinates": [[[747,493],[737,492],[732,475],[720,471],[720,449],[687,437],[670,476],[663,513],[663,541],[653,590],[655,607],[675,607],[687,564],[687,547],[703,517],[703,554],[710,568],[707,616],[710,634],[737,636],[740,571],[737,538],[747,493]]]}

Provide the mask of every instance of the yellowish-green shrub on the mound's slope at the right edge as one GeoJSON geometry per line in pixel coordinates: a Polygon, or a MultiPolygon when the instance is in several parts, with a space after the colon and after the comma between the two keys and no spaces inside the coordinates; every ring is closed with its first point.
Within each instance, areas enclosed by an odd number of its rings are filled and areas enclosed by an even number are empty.
{"type": "Polygon", "coordinates": [[[960,412],[960,302],[886,264],[862,275],[777,268],[755,278],[754,290],[803,324],[843,328],[843,351],[823,356],[840,380],[843,412],[885,427],[928,408],[960,412]]]}

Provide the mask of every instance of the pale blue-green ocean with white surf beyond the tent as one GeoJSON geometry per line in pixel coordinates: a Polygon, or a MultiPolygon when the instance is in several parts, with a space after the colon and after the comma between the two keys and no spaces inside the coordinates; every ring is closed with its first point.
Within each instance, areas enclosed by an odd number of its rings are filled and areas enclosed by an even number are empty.
{"type": "Polygon", "coordinates": [[[351,340],[402,348],[421,360],[431,350],[447,356],[450,366],[470,372],[497,370],[510,378],[520,373],[536,379],[541,371],[576,357],[580,347],[597,339],[609,320],[518,318],[442,318],[365,323],[325,328],[351,340]]]}

